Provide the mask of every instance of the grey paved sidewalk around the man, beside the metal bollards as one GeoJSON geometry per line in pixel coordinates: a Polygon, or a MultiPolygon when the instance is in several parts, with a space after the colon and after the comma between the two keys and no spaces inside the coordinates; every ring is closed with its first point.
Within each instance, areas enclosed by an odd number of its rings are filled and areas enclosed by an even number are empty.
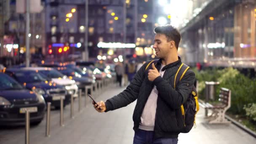
{"type": "MultiPolygon", "coordinates": [[[[97,101],[116,95],[124,88],[114,85],[96,97],[97,101]]],[[[84,100],[84,99],[83,99],[84,100]]],[[[135,102],[127,107],[107,113],[96,112],[92,105],[77,112],[75,103],[75,118],[69,118],[69,106],[65,108],[64,127],[59,126],[59,115],[51,123],[51,137],[45,137],[45,121],[30,131],[30,144],[132,144],[133,121],[132,114],[135,102]]],[[[84,106],[84,105],[83,105],[84,106]]],[[[179,135],[179,144],[256,144],[256,139],[235,125],[209,125],[204,120],[204,109],[197,114],[197,128],[189,133],[179,135]]],[[[0,136],[0,144],[24,144],[24,129],[19,130],[15,137],[5,133],[0,136]],[[1,140],[1,138],[4,138],[1,140]]],[[[1,133],[0,129],[0,135],[1,133]]]]}

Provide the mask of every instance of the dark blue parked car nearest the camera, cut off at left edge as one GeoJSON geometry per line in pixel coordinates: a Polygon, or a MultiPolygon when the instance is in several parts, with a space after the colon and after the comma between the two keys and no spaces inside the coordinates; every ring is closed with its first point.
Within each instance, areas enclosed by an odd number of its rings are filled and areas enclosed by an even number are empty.
{"type": "Polygon", "coordinates": [[[0,73],[0,125],[24,125],[26,110],[30,112],[30,123],[39,124],[45,114],[43,96],[0,73]]]}

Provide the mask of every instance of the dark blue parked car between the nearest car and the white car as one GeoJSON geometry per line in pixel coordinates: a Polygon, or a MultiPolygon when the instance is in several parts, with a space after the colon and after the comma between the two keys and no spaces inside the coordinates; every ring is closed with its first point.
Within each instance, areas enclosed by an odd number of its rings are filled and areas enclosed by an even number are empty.
{"type": "Polygon", "coordinates": [[[64,99],[65,105],[70,103],[70,95],[63,85],[46,80],[36,70],[26,69],[6,69],[5,73],[17,80],[21,85],[24,85],[31,91],[43,95],[46,102],[51,102],[51,105],[59,108],[60,98],[64,99]]]}

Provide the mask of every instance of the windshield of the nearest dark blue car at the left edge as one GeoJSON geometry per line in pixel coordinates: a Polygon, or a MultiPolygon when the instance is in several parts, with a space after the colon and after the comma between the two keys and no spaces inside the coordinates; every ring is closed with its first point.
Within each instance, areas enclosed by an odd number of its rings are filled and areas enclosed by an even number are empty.
{"type": "Polygon", "coordinates": [[[13,78],[0,73],[0,90],[15,90],[15,89],[23,89],[23,87],[13,80],[13,78]]]}

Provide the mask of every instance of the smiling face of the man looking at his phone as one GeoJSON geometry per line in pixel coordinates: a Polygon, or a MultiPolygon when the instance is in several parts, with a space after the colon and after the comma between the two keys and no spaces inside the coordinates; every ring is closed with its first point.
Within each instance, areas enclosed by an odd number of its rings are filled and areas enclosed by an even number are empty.
{"type": "Polygon", "coordinates": [[[169,56],[171,51],[171,45],[173,41],[167,42],[167,37],[164,34],[156,34],[153,48],[157,55],[157,58],[165,59],[169,56]]]}

